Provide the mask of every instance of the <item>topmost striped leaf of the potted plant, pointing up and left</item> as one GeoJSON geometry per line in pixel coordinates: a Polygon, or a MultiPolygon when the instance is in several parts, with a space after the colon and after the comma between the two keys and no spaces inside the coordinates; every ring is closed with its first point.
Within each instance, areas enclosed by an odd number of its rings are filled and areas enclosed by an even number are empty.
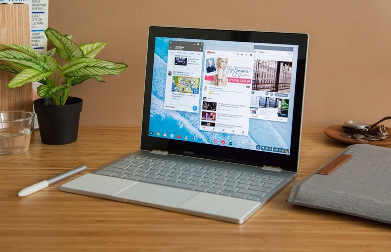
{"type": "Polygon", "coordinates": [[[45,34],[48,40],[59,52],[59,55],[64,60],[83,57],[83,51],[72,40],[62,35],[60,32],[47,28],[45,34]]]}

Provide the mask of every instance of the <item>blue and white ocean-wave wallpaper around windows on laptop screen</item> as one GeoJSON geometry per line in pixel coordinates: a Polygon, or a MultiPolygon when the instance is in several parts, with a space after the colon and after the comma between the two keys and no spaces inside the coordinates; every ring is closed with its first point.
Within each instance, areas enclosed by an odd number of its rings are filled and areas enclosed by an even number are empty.
{"type": "MultiPolygon", "coordinates": [[[[200,112],[192,113],[164,109],[167,54],[170,40],[193,42],[202,41],[204,42],[205,46],[218,46],[221,44],[221,41],[213,40],[192,40],[161,37],[156,38],[149,120],[150,137],[170,138],[170,135],[173,134],[174,138],[172,139],[177,141],[225,145],[227,147],[259,151],[263,151],[261,150],[260,146],[290,149],[293,109],[289,110],[288,122],[250,118],[248,136],[202,131],[199,129],[200,112]],[[181,139],[178,139],[177,136],[181,136],[181,139]],[[222,141],[224,141],[225,144],[222,144],[222,141]]],[[[240,46],[246,46],[248,48],[251,48],[251,46],[253,46],[253,43],[236,42],[236,45],[238,44],[240,44],[240,46]]],[[[203,57],[203,59],[205,59],[205,55],[203,57]]],[[[292,73],[293,72],[294,71],[292,71],[292,73]]],[[[202,76],[203,75],[204,73],[202,72],[202,76]]],[[[292,79],[295,80],[294,76],[292,76],[292,79]]],[[[203,78],[201,79],[199,89],[201,92],[200,97],[202,97],[202,85],[203,78]]],[[[292,84],[292,97],[290,101],[290,106],[292,106],[294,102],[294,86],[295,85],[292,84]]],[[[202,99],[200,99],[199,101],[199,107],[201,107],[201,103],[202,99]]],[[[281,154],[287,155],[287,153],[285,152],[281,152],[281,154]]]]}

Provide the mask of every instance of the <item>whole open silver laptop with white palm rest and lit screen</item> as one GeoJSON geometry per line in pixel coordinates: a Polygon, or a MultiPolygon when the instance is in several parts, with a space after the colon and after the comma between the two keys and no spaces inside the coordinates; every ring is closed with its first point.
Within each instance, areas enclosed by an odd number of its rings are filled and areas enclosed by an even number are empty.
{"type": "Polygon", "coordinates": [[[307,44],[150,27],[140,150],[61,191],[244,223],[297,176],[307,44]]]}

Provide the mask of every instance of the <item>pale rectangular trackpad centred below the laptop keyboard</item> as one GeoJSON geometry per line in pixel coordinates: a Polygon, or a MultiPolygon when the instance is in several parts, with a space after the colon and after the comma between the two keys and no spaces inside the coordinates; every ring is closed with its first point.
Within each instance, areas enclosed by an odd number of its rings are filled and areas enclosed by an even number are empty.
{"type": "Polygon", "coordinates": [[[198,192],[173,188],[169,186],[138,182],[124,191],[115,194],[114,196],[123,198],[126,200],[126,202],[129,203],[137,204],[137,202],[143,202],[151,205],[177,208],[196,194],[198,194],[198,192]]]}

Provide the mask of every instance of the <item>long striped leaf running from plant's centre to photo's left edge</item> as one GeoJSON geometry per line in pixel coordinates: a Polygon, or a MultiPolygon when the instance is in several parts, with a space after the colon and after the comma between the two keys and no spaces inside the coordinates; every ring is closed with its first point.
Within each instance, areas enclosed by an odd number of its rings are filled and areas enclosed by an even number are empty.
{"type": "Polygon", "coordinates": [[[17,64],[17,66],[32,68],[42,73],[47,72],[45,69],[50,67],[48,64],[41,60],[33,58],[23,52],[13,50],[0,51],[0,60],[14,62],[17,64]]]}

